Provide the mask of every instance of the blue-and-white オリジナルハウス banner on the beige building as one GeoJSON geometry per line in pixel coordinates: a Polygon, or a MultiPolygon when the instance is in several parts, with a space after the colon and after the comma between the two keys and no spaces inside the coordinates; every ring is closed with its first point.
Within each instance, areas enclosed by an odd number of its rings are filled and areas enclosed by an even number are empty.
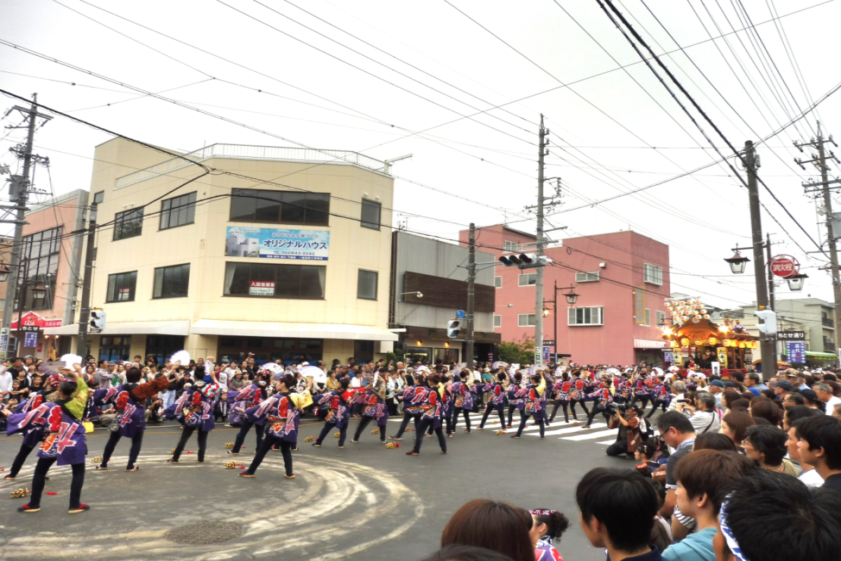
{"type": "Polygon", "coordinates": [[[228,226],[227,257],[269,257],[327,261],[330,232],[327,230],[275,230],[228,226]]]}

